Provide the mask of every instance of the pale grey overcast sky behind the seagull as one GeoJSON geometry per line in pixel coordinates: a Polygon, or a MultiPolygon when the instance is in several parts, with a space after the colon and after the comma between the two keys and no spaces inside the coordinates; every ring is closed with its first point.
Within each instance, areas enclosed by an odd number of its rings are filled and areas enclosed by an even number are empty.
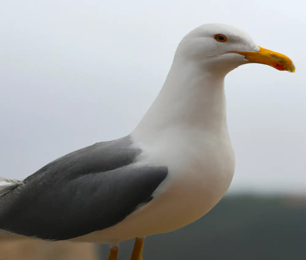
{"type": "Polygon", "coordinates": [[[282,0],[2,0],[0,175],[24,178],[73,150],[129,134],[181,38],[219,22],[297,68],[251,64],[226,77],[236,153],[230,190],[306,191],[305,9],[282,0]]]}

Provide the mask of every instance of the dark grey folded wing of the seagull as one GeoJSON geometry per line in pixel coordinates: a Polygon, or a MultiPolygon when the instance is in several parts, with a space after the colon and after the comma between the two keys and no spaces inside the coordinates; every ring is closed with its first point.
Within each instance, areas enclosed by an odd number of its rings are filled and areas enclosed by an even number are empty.
{"type": "Polygon", "coordinates": [[[126,136],[58,158],[0,197],[0,228],[66,240],[117,224],[149,202],[168,173],[133,164],[140,153],[126,136]]]}

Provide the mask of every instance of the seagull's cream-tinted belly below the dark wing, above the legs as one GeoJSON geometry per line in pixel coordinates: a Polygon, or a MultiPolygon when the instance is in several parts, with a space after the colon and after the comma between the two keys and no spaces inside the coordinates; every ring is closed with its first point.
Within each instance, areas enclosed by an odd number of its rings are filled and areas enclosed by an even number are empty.
{"type": "Polygon", "coordinates": [[[118,243],[135,237],[171,232],[196,221],[211,210],[226,193],[233,167],[224,172],[186,172],[169,179],[155,198],[117,225],[71,241],[118,243]]]}

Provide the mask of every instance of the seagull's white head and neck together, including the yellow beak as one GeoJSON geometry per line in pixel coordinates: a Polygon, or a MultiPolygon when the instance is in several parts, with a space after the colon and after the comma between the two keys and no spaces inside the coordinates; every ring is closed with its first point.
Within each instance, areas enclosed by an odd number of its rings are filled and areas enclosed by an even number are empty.
{"type": "MultiPolygon", "coordinates": [[[[246,63],[294,72],[285,55],[259,47],[244,31],[225,24],[204,24],[180,42],[165,83],[136,128],[156,132],[173,125],[227,132],[224,76],[246,63]]],[[[152,134],[148,139],[154,140],[152,134]]]]}

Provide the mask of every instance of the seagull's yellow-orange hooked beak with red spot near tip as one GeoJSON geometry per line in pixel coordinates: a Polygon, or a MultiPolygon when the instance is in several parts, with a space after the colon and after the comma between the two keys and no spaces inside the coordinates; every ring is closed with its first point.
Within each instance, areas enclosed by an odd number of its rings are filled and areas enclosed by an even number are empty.
{"type": "Polygon", "coordinates": [[[269,65],[278,70],[287,70],[295,72],[295,67],[292,60],[287,56],[274,52],[272,50],[264,49],[258,46],[260,51],[232,51],[244,56],[245,59],[254,63],[261,63],[269,65]]]}

